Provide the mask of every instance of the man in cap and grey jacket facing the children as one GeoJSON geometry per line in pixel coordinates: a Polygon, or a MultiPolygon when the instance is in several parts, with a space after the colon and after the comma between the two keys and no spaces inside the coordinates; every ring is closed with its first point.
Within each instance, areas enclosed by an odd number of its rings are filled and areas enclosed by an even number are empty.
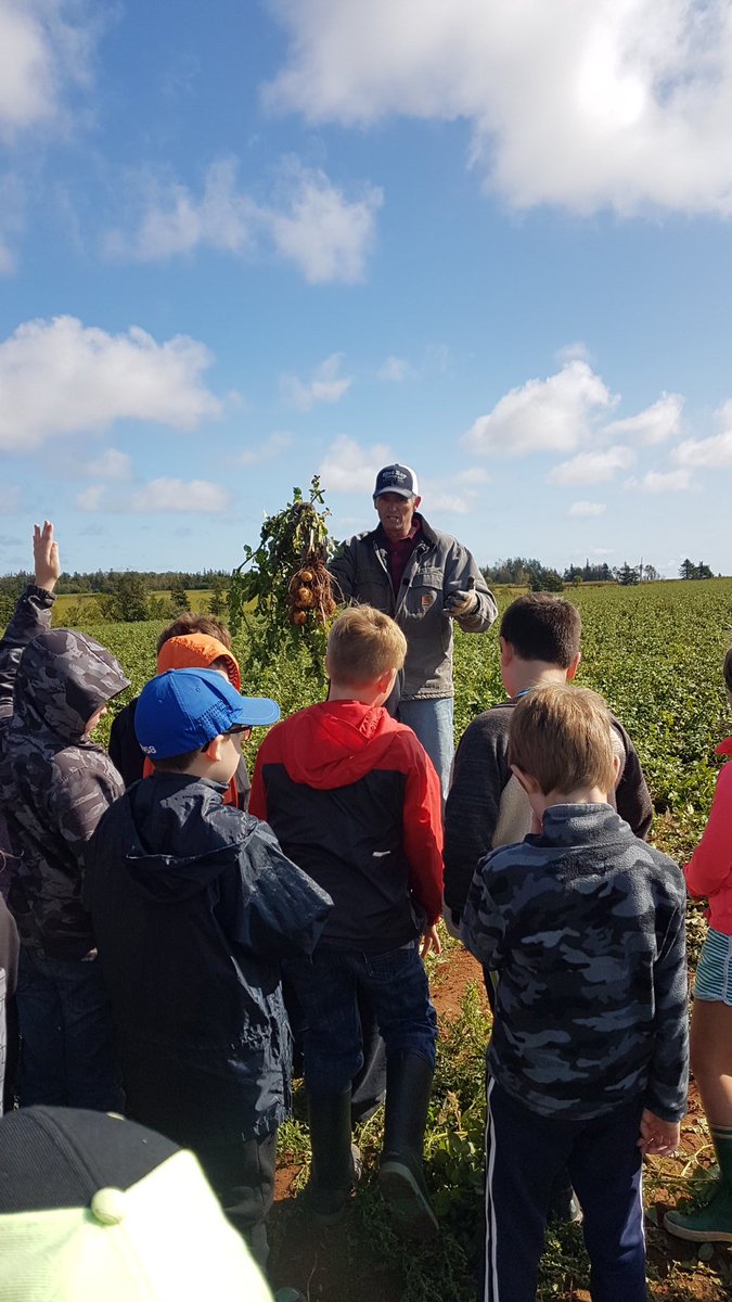
{"type": "Polygon", "coordinates": [[[406,660],[396,703],[432,760],[443,799],[453,756],[452,621],[464,633],[486,633],[496,603],[474,557],[419,514],[422,499],[409,466],[376,475],[376,529],[344,543],[330,570],[336,600],[374,605],[391,615],[406,637],[406,660]]]}

